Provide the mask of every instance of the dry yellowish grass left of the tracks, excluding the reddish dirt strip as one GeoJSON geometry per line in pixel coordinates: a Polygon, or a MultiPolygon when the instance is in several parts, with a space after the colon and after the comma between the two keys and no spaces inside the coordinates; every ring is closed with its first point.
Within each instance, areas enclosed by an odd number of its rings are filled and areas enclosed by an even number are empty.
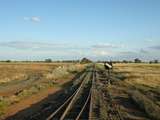
{"type": "Polygon", "coordinates": [[[14,103],[17,103],[27,97],[37,94],[44,89],[48,89],[50,87],[61,87],[60,82],[62,79],[68,79],[70,76],[74,76],[76,73],[80,72],[84,68],[84,65],[8,63],[8,64],[0,64],[0,68],[2,68],[0,69],[0,75],[3,76],[0,78],[0,80],[2,78],[4,78],[4,80],[5,78],[9,79],[7,81],[3,80],[3,83],[1,80],[0,88],[2,86],[7,87],[7,85],[9,85],[9,87],[14,87],[13,85],[15,84],[17,84],[18,87],[22,87],[24,82],[15,82],[15,81],[24,81],[24,77],[20,77],[21,74],[25,74],[28,77],[28,79],[31,79],[27,80],[28,82],[31,83],[28,86],[21,89],[20,91],[16,92],[16,94],[1,96],[0,116],[2,116],[7,110],[7,108],[14,103]],[[19,76],[17,77],[17,80],[13,79],[15,78],[15,76],[19,76]],[[35,79],[35,81],[33,81],[32,79],[35,79]]]}

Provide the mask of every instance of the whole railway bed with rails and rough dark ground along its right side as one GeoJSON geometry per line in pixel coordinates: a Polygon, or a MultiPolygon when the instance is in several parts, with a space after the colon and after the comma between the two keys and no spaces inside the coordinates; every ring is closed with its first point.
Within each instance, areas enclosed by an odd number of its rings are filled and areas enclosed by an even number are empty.
{"type": "MultiPolygon", "coordinates": [[[[106,87],[110,85],[110,76],[105,71],[91,67],[83,75],[79,87],[52,110],[49,106],[40,117],[30,120],[123,120],[118,107],[106,87]],[[52,112],[48,112],[50,109],[52,112]]],[[[63,98],[62,98],[63,99],[63,98]]]]}

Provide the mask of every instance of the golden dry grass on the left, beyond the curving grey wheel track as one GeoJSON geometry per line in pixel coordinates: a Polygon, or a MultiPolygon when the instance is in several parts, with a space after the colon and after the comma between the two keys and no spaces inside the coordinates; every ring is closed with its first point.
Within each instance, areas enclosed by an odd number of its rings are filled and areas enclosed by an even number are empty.
{"type": "Polygon", "coordinates": [[[58,64],[24,64],[24,63],[1,63],[0,84],[13,80],[25,80],[30,74],[44,74],[59,66],[58,64]]]}

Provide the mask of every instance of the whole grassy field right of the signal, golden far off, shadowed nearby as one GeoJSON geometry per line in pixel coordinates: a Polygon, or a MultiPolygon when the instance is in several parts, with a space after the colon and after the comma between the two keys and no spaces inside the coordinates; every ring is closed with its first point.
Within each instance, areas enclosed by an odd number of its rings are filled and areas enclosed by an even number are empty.
{"type": "Polygon", "coordinates": [[[160,64],[115,64],[108,88],[126,119],[160,119],[160,64]]]}

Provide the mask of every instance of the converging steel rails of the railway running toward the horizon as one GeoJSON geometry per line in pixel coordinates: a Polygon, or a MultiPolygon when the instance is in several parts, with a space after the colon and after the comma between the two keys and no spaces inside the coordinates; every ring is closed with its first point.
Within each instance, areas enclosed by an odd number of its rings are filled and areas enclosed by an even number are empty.
{"type": "Polygon", "coordinates": [[[81,82],[79,88],[46,120],[64,119],[88,119],[90,111],[91,87],[93,70],[89,70],[87,76],[81,82]]]}

